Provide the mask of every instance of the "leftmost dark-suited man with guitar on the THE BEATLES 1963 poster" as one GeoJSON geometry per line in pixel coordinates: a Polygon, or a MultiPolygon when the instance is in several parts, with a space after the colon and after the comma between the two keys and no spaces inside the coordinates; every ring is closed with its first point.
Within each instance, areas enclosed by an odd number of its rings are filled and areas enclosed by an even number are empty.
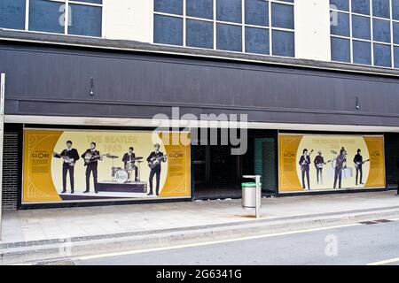
{"type": "Polygon", "coordinates": [[[69,172],[69,182],[71,184],[71,194],[74,194],[74,164],[79,160],[79,153],[72,148],[72,142],[66,142],[66,149],[61,153],[54,152],[56,158],[63,158],[62,164],[62,194],[66,193],[66,174],[69,172]]]}

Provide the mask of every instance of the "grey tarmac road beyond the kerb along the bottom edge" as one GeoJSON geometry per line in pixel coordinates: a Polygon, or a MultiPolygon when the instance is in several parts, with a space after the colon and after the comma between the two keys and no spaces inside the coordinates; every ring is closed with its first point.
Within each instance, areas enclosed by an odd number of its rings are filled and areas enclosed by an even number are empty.
{"type": "Polygon", "coordinates": [[[74,264],[399,264],[399,221],[74,259],[74,264]]]}

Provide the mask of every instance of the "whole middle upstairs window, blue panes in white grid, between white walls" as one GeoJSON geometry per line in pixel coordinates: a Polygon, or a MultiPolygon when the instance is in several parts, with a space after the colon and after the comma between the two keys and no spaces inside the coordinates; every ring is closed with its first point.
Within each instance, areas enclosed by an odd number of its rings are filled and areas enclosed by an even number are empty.
{"type": "Polygon", "coordinates": [[[153,42],[294,57],[293,0],[154,0],[153,42]]]}

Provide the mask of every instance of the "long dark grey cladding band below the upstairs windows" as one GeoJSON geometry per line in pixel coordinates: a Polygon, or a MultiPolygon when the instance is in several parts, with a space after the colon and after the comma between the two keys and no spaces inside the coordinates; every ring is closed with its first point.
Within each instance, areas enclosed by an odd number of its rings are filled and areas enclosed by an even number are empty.
{"type": "Polygon", "coordinates": [[[260,122],[399,126],[399,81],[381,76],[5,43],[0,71],[8,114],[149,118],[181,106],[260,122]]]}

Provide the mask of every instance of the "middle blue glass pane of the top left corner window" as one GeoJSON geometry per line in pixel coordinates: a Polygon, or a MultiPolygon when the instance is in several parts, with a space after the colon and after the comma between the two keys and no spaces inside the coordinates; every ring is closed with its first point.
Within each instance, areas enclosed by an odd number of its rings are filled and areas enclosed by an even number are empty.
{"type": "Polygon", "coordinates": [[[48,0],[30,0],[29,30],[65,34],[64,3],[48,0]]]}

